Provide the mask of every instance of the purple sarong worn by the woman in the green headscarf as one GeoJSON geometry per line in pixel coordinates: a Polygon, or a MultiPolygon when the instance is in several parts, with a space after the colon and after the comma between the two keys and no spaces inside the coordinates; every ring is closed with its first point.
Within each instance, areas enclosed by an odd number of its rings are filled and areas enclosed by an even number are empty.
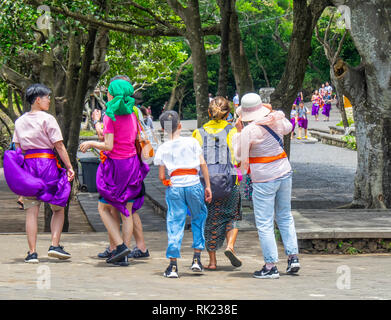
{"type": "Polygon", "coordinates": [[[96,188],[107,203],[129,217],[126,208],[129,200],[134,200],[132,213],[144,203],[143,180],[148,172],[149,166],[137,155],[128,159],[107,157],[96,172],[96,188]]]}

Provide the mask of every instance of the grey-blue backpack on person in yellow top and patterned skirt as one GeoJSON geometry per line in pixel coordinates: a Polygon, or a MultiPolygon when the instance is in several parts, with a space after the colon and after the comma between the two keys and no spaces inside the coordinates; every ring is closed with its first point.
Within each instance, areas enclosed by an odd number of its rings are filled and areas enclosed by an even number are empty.
{"type": "MultiPolygon", "coordinates": [[[[228,124],[224,130],[210,134],[202,127],[199,131],[203,140],[203,154],[208,165],[212,200],[226,198],[231,195],[236,182],[237,171],[231,162],[231,152],[227,143],[229,131],[233,128],[228,124]]],[[[205,180],[200,171],[200,180],[205,187],[205,180]]]]}

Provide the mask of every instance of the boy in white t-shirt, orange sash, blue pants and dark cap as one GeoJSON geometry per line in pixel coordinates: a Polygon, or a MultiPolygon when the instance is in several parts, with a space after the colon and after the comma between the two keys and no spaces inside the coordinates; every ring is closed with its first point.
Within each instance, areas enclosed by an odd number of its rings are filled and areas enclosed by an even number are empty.
{"type": "Polygon", "coordinates": [[[208,215],[205,201],[212,200],[208,167],[202,156],[198,141],[192,137],[181,137],[181,124],[178,113],[166,111],[160,118],[162,129],[168,133],[169,141],[157,150],[154,164],[159,166],[159,179],[168,186],[166,257],[170,264],[164,272],[167,278],[178,278],[177,258],[180,258],[187,208],[191,213],[194,257],[190,267],[194,272],[202,272],[201,251],[205,248],[204,227],[208,215]],[[198,171],[205,177],[205,189],[200,182],[198,171]],[[166,180],[166,169],[171,179],[166,180]]]}

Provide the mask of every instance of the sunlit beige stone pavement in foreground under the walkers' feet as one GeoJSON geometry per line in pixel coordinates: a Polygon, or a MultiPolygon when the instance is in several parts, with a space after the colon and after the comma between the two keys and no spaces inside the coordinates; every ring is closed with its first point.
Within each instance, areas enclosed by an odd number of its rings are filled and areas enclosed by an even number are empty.
{"type": "MultiPolygon", "coordinates": [[[[145,218],[147,218],[145,216],[145,218]]],[[[147,219],[143,219],[146,225],[147,219]]],[[[162,225],[164,222],[162,221],[162,225]]],[[[148,228],[146,228],[148,229],[148,228]]],[[[39,234],[40,263],[23,262],[25,235],[0,235],[0,300],[383,300],[391,299],[391,259],[385,254],[359,256],[301,254],[298,276],[285,274],[286,260],[280,247],[278,280],[252,277],[262,266],[256,232],[241,232],[236,251],[243,265],[234,268],[219,250],[218,270],[194,274],[190,231],[185,231],[179,279],[163,272],[166,233],[145,231],[151,256],[114,267],[96,254],[107,245],[106,233],[63,234],[62,244],[72,254],[67,261],[47,257],[49,234],[39,234]]],[[[202,254],[204,263],[206,253],[202,254]]],[[[143,310],[143,314],[148,310],[143,310]]]]}

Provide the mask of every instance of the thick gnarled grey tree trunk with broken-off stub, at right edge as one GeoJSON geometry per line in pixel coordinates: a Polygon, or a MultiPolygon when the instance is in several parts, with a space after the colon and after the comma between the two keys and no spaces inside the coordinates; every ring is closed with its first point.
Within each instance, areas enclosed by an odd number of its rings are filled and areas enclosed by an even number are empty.
{"type": "Polygon", "coordinates": [[[334,65],[355,120],[358,165],[352,207],[391,208],[391,5],[388,0],[343,4],[350,8],[350,33],[362,58],[357,68],[342,60],[334,65]]]}

